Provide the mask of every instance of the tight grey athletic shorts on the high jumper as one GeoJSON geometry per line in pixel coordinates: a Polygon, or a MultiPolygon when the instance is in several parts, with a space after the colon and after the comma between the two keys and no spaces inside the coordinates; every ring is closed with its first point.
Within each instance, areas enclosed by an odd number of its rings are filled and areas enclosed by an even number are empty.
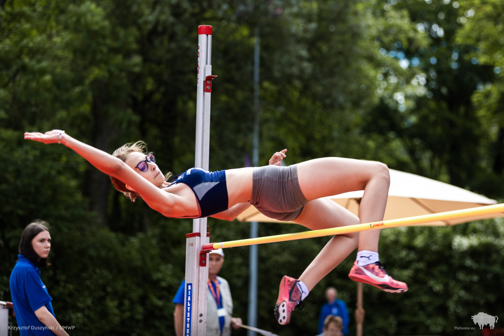
{"type": "Polygon", "coordinates": [[[250,203],[270,218],[282,221],[296,219],[308,203],[299,187],[297,166],[256,167],[250,203]]]}

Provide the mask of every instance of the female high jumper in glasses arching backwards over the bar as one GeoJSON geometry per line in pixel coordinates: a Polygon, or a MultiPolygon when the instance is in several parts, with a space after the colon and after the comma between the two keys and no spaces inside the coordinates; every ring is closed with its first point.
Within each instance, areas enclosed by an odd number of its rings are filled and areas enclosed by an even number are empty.
{"type": "MultiPolygon", "coordinates": [[[[191,168],[170,183],[143,142],[125,144],[110,155],[61,130],[27,132],[25,139],[71,148],[109,175],[114,187],[132,201],[141,198],[173,218],[234,220],[251,204],[268,217],[310,230],[356,225],[383,220],[390,185],[389,169],[381,162],[324,157],[281,166],[286,149],[276,152],[267,166],[218,172],[191,168]],[[356,190],[364,190],[358,217],[324,198],[356,190]]],[[[274,309],[278,323],[289,323],[308,292],[356,247],[357,260],[348,275],[353,281],[385,292],[406,292],[407,285],[388,275],[379,261],[379,238],[380,230],[334,236],[299,278],[283,276],[274,309]]]]}

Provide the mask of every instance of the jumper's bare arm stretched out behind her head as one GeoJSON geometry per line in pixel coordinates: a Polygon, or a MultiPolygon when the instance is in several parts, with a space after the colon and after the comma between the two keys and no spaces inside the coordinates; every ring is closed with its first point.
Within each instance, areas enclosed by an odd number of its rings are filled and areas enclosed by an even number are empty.
{"type": "Polygon", "coordinates": [[[176,196],[161,191],[152,183],[142,178],[121,159],[107,152],[76,140],[61,130],[52,130],[45,133],[27,132],[25,133],[25,139],[45,144],[59,143],[65,145],[85,158],[100,172],[115,177],[131,186],[142,195],[143,200],[154,210],[159,211],[165,216],[178,215],[177,213],[173,213],[176,196]]]}

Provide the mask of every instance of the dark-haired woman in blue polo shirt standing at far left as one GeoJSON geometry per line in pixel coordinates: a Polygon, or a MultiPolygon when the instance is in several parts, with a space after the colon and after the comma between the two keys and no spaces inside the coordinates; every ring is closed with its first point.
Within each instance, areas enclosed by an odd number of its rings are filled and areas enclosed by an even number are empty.
{"type": "Polygon", "coordinates": [[[50,249],[51,235],[47,222],[36,220],[30,223],[21,236],[18,261],[10,281],[21,336],[68,335],[54,317],[52,298],[40,278],[39,267],[50,265],[47,262],[50,249]]]}

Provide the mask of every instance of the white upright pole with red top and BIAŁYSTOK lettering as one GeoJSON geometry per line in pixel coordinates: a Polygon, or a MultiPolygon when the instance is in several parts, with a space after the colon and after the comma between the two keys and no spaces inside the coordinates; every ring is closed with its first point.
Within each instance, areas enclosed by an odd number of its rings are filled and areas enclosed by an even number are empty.
{"type": "MultiPolygon", "coordinates": [[[[212,92],[212,26],[198,27],[198,85],[196,102],[195,166],[208,170],[210,149],[210,96],[212,92]]],[[[210,241],[207,218],[193,220],[193,233],[186,236],[184,336],[204,335],[207,328],[207,253],[210,241]]]]}

